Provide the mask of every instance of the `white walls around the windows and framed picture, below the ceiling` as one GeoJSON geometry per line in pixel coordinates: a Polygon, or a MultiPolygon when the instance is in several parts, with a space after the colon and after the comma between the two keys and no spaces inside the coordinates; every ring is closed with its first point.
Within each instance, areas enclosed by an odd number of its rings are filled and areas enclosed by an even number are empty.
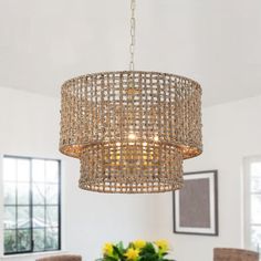
{"type": "MultiPolygon", "coordinates": [[[[100,195],[77,189],[79,161],[58,152],[59,109],[56,98],[0,88],[0,154],[63,159],[64,250],[91,261],[98,258],[104,241],[168,238],[178,261],[209,261],[213,247],[242,247],[242,158],[261,154],[261,97],[206,108],[203,155],[185,163],[186,171],[219,170],[219,237],[174,234],[171,194],[100,195]]],[[[2,216],[2,205],[0,210],[2,216]]],[[[0,246],[1,236],[0,231],[0,246]]]]}

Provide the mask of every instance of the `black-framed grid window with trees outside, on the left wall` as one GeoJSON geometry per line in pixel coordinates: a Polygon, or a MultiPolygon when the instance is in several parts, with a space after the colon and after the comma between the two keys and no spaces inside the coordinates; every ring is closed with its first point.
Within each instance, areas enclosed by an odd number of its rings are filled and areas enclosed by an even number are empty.
{"type": "Polygon", "coordinates": [[[60,160],[3,157],[4,254],[61,249],[60,160]]]}

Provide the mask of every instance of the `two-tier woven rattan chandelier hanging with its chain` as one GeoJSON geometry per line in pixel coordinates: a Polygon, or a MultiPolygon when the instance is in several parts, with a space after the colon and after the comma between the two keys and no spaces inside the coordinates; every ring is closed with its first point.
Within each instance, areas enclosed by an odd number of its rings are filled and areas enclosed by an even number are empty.
{"type": "Polygon", "coordinates": [[[134,70],[62,85],[60,152],[80,159],[82,189],[164,192],[182,187],[182,160],[202,152],[201,87],[187,77],[134,70]]]}

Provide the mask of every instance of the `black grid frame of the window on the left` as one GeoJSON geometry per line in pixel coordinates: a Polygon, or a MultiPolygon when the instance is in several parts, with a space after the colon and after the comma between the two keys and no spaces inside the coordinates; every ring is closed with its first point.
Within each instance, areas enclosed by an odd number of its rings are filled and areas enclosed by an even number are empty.
{"type": "MultiPolygon", "coordinates": [[[[0,239],[2,239],[2,244],[1,244],[1,252],[3,254],[3,257],[10,257],[10,255],[21,255],[21,254],[38,254],[38,253],[45,253],[45,252],[55,252],[55,251],[61,251],[62,250],[62,161],[61,159],[58,158],[49,158],[49,157],[30,157],[30,156],[17,156],[17,155],[9,155],[9,154],[4,154],[1,155],[1,169],[2,169],[2,175],[1,175],[1,181],[2,181],[2,188],[0,186],[0,188],[2,189],[2,194],[1,194],[1,207],[2,207],[2,226],[1,226],[1,236],[0,239]],[[29,216],[30,216],[30,227],[27,228],[30,231],[30,237],[31,237],[31,242],[30,242],[30,250],[28,251],[17,251],[17,252],[4,252],[4,231],[9,230],[9,229],[4,229],[3,226],[3,217],[4,217],[4,208],[6,205],[4,203],[4,197],[3,197],[3,189],[4,189],[4,180],[3,180],[3,160],[4,158],[14,158],[14,159],[27,159],[30,161],[30,181],[29,181],[29,186],[30,186],[30,191],[29,191],[29,216]],[[35,229],[32,225],[32,218],[33,218],[33,192],[32,192],[32,186],[33,186],[33,181],[32,181],[32,160],[53,160],[58,163],[58,249],[43,249],[43,250],[39,250],[39,251],[34,251],[33,250],[33,230],[35,229]]],[[[45,184],[45,182],[44,182],[45,184]]],[[[15,197],[17,197],[17,192],[15,192],[15,197]]],[[[12,205],[13,207],[15,207],[15,209],[19,206],[24,206],[24,205],[19,205],[15,201],[15,205],[12,205]]],[[[41,205],[44,207],[45,211],[46,211],[46,207],[48,206],[52,206],[52,205],[46,205],[45,199],[44,199],[44,205],[41,205]]],[[[17,223],[17,217],[15,217],[15,223],[17,223]]],[[[15,229],[10,229],[10,230],[17,230],[15,229]]],[[[22,229],[21,229],[22,230],[22,229]]],[[[17,237],[17,234],[15,234],[17,237]]],[[[1,240],[0,240],[1,241],[1,240]]],[[[44,244],[46,241],[46,233],[45,233],[45,228],[44,228],[44,244]]]]}

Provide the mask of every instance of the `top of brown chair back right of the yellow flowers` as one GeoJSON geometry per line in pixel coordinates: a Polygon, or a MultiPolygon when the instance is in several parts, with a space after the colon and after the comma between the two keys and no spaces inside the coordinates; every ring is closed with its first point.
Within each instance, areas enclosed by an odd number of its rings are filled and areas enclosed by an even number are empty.
{"type": "Polygon", "coordinates": [[[259,261],[259,253],[244,249],[215,248],[213,261],[259,261]]]}

